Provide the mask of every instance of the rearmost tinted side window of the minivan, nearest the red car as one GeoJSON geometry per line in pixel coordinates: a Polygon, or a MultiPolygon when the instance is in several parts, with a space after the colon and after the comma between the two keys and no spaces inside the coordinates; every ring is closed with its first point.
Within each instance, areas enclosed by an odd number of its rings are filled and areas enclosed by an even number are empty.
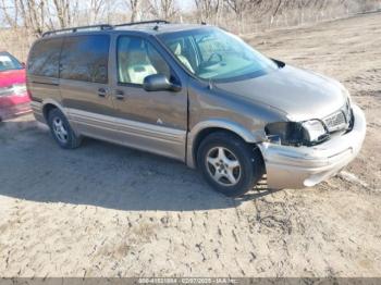
{"type": "Polygon", "coordinates": [[[62,38],[38,41],[29,54],[28,73],[58,78],[62,38]]]}

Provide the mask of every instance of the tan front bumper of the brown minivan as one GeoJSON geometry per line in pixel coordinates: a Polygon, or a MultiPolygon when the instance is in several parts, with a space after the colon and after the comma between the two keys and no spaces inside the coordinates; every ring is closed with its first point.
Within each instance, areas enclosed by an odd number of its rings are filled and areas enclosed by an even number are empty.
{"type": "Polygon", "coordinates": [[[335,174],[360,151],[366,134],[364,112],[353,106],[354,127],[314,147],[288,147],[262,142],[259,148],[266,162],[268,187],[305,188],[335,174]]]}

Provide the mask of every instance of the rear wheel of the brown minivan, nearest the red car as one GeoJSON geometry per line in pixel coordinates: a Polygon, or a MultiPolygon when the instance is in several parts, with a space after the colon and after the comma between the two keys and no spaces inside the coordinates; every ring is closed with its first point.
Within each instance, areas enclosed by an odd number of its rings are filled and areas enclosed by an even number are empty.
{"type": "Polygon", "coordinates": [[[73,128],[70,126],[67,119],[56,108],[48,113],[48,124],[51,135],[57,144],[63,149],[75,149],[79,147],[82,137],[75,135],[73,128]]]}

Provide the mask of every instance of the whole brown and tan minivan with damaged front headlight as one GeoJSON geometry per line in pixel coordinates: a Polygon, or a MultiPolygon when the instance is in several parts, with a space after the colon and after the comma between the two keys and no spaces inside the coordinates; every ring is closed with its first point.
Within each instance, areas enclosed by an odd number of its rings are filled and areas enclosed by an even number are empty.
{"type": "Polygon", "coordinates": [[[366,133],[342,84],[205,24],[48,32],[30,49],[27,88],[60,147],[93,137],[165,156],[231,197],[265,174],[271,189],[314,186],[356,157],[366,133]]]}

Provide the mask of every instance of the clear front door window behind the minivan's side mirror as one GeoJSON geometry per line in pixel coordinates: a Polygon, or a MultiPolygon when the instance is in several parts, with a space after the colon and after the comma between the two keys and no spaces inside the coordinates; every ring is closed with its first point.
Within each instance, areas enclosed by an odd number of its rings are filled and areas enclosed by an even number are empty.
{"type": "Polygon", "coordinates": [[[118,82],[142,85],[152,74],[171,79],[171,69],[156,48],[145,39],[123,36],[118,39],[118,82]]]}

